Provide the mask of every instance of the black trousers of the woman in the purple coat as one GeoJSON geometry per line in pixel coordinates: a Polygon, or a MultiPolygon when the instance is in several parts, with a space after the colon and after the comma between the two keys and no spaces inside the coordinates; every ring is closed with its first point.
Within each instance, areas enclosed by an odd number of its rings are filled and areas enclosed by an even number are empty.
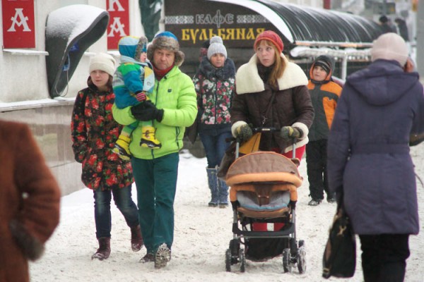
{"type": "Polygon", "coordinates": [[[409,257],[408,234],[359,235],[365,282],[402,282],[409,257]]]}

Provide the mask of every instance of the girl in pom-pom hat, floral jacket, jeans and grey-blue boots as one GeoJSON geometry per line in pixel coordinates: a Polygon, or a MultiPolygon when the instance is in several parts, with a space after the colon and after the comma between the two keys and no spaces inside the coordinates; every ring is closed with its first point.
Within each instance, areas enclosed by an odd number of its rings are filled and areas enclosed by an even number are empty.
{"type": "Polygon", "coordinates": [[[209,207],[228,206],[228,187],[216,173],[231,137],[230,103],[235,87],[235,66],[227,58],[223,39],[211,38],[208,54],[193,78],[199,106],[199,135],[206,151],[209,207]]]}

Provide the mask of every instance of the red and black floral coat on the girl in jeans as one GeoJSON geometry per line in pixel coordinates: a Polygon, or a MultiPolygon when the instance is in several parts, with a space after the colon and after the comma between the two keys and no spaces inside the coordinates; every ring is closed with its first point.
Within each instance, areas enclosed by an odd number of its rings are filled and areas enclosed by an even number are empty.
{"type": "Polygon", "coordinates": [[[81,180],[93,190],[124,188],[134,182],[131,162],[112,152],[122,130],[122,125],[113,119],[113,103],[114,93],[98,91],[89,79],[88,88],[78,92],[73,105],[73,154],[83,164],[81,180]],[[84,93],[87,95],[83,104],[84,93]]]}

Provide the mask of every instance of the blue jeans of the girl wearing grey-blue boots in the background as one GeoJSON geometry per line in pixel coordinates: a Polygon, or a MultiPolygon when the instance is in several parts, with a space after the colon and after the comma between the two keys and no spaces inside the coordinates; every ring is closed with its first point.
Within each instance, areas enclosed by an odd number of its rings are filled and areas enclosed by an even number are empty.
{"type": "Polygon", "coordinates": [[[230,142],[226,142],[225,140],[232,137],[231,132],[224,131],[217,135],[200,133],[199,135],[205,148],[208,168],[219,166],[224,157],[225,150],[230,146],[230,142]]]}

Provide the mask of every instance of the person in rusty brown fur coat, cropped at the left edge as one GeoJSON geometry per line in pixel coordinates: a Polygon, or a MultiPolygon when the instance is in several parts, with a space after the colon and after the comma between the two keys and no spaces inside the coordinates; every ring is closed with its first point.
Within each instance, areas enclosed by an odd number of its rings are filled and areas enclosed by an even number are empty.
{"type": "Polygon", "coordinates": [[[0,281],[29,281],[59,223],[60,190],[28,125],[0,121],[0,281]]]}

